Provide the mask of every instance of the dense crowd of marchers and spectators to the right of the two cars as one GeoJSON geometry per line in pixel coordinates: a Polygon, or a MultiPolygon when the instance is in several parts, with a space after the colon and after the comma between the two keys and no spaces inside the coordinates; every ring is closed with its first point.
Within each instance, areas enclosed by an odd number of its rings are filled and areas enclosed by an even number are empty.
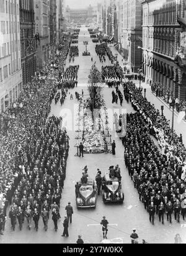
{"type": "Polygon", "coordinates": [[[180,213],[186,216],[186,177],[184,174],[186,149],[181,137],[172,133],[166,117],[144,99],[133,82],[124,87],[125,98],[130,99],[136,110],[135,114],[127,114],[125,146],[125,163],[128,173],[134,181],[139,193],[139,200],[148,210],[149,221],[154,224],[154,215],[164,224],[167,221],[180,222],[180,213]],[[156,129],[164,130],[164,136],[171,148],[165,145],[160,151],[154,144],[151,135],[159,139],[156,129]]]}

